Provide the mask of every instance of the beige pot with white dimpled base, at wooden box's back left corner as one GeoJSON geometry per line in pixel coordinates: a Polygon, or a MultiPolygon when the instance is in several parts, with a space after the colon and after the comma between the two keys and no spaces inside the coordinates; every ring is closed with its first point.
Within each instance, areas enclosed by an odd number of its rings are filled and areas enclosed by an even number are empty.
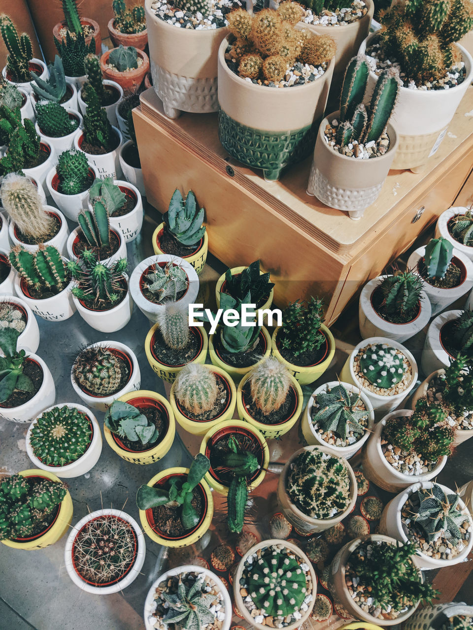
{"type": "Polygon", "coordinates": [[[146,0],[149,60],[156,94],[169,118],[180,112],[218,110],[217,54],[228,28],[176,28],[160,20],[146,0]]]}

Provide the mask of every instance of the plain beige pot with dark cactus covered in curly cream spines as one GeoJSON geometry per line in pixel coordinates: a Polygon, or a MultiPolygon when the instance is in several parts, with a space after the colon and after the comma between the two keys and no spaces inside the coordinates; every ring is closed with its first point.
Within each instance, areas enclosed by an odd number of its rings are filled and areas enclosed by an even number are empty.
{"type": "Polygon", "coordinates": [[[353,509],[356,496],[351,466],[325,446],[297,450],[284,465],[277,484],[284,516],[307,536],[343,520],[353,509]]]}

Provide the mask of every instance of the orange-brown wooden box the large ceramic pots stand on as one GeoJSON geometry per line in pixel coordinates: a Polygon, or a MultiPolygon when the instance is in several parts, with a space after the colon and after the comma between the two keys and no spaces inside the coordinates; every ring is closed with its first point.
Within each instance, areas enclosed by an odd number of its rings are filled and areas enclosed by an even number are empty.
{"type": "Polygon", "coordinates": [[[216,114],[170,120],[149,89],[134,122],[148,201],[165,212],[176,186],[194,190],[206,209],[209,250],[219,260],[238,266],[260,258],[276,281],[276,304],[324,297],[330,324],[366,280],[453,204],[472,171],[472,113],[470,86],[426,171],[390,171],[359,221],[308,197],[310,159],[267,182],[229,157],[218,140],[216,114]]]}

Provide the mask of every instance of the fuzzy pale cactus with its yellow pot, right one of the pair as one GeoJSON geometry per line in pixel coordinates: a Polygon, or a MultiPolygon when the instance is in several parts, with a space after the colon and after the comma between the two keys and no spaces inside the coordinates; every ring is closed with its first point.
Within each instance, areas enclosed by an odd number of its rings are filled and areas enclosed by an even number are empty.
{"type": "Polygon", "coordinates": [[[276,357],[266,357],[240,381],[237,409],[240,420],[256,427],[266,438],[287,433],[300,416],[300,384],[276,357]]]}

